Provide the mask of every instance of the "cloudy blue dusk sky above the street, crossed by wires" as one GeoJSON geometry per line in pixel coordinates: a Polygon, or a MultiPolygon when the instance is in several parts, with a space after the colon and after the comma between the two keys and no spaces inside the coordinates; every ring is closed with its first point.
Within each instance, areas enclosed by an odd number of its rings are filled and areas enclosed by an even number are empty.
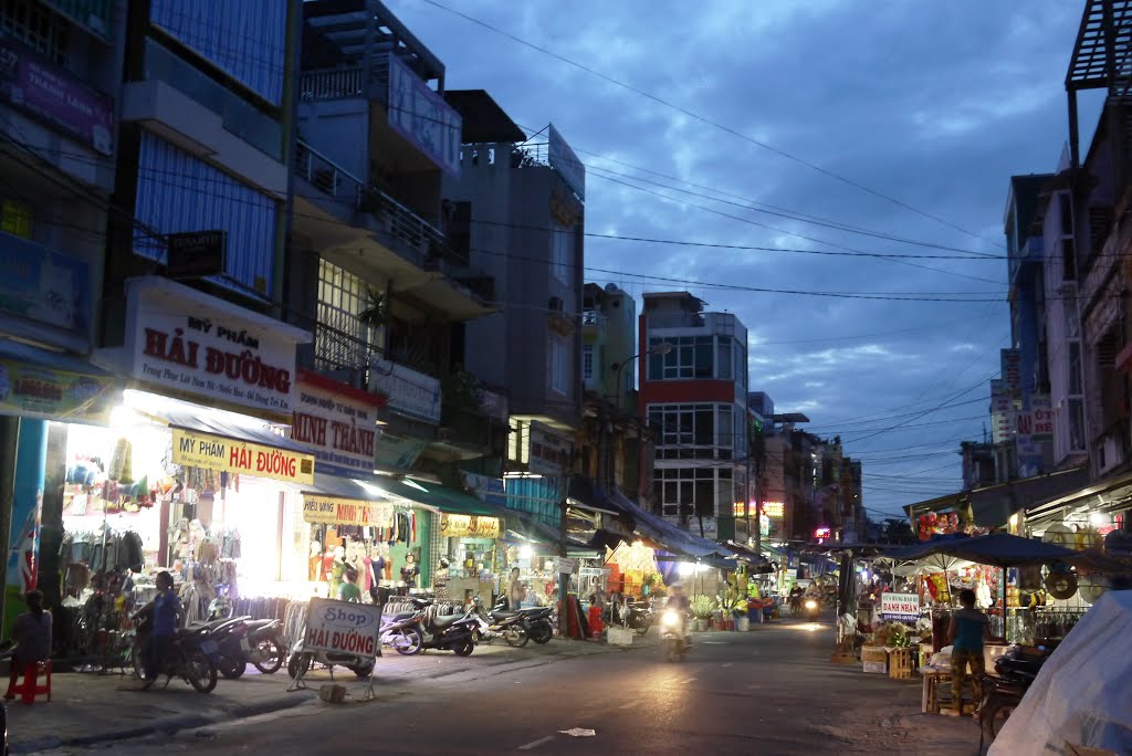
{"type": "MultiPolygon", "coordinates": [[[[959,488],[959,443],[989,430],[987,381],[1010,340],[1006,189],[1012,174],[1056,167],[1080,0],[444,0],[657,100],[426,0],[387,2],[444,61],[448,88],[487,89],[528,134],[555,123],[588,165],[588,232],[967,257],[585,248],[586,281],[617,283],[638,308],[642,292],[687,289],[738,315],[752,390],[841,436],[864,463],[874,519],[959,488]]],[[[1082,139],[1098,112],[1084,105],[1082,139]]]]}

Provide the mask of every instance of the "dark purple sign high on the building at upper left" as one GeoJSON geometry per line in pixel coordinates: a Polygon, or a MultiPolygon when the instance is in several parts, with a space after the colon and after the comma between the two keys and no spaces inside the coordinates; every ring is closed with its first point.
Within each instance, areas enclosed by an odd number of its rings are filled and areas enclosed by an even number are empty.
{"type": "Polygon", "coordinates": [[[10,37],[0,38],[0,102],[103,155],[114,152],[114,103],[10,37]]]}

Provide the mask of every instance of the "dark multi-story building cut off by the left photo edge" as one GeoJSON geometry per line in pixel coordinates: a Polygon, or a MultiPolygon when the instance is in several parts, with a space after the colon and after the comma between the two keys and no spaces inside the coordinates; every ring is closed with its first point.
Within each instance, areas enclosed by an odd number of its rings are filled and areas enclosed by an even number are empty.
{"type": "MultiPolygon", "coordinates": [[[[49,605],[59,594],[67,432],[49,421],[105,422],[113,389],[87,356],[103,325],[126,8],[0,3],[0,488],[12,497],[0,532],[10,530],[5,545],[16,553],[25,523],[42,523],[34,564],[49,605]],[[72,401],[83,392],[88,404],[72,401]]],[[[12,616],[31,586],[20,574],[8,584],[12,616]]]]}

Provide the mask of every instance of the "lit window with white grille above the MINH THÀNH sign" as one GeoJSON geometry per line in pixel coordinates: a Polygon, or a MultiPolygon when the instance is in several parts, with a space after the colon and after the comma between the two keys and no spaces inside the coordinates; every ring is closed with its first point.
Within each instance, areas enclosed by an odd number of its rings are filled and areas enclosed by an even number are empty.
{"type": "Polygon", "coordinates": [[[355,368],[368,361],[369,345],[377,336],[358,319],[367,304],[361,278],[333,263],[319,261],[315,359],[320,369],[355,368]]]}

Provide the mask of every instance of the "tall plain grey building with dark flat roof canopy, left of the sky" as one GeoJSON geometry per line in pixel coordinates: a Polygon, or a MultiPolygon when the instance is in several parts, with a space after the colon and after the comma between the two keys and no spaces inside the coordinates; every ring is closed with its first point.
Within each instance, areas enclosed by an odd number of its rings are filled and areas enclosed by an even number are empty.
{"type": "Polygon", "coordinates": [[[507,393],[508,501],[557,522],[582,422],[585,172],[554,126],[531,143],[487,92],[445,96],[463,139],[444,197],[497,304],[468,324],[465,368],[507,393]]]}

